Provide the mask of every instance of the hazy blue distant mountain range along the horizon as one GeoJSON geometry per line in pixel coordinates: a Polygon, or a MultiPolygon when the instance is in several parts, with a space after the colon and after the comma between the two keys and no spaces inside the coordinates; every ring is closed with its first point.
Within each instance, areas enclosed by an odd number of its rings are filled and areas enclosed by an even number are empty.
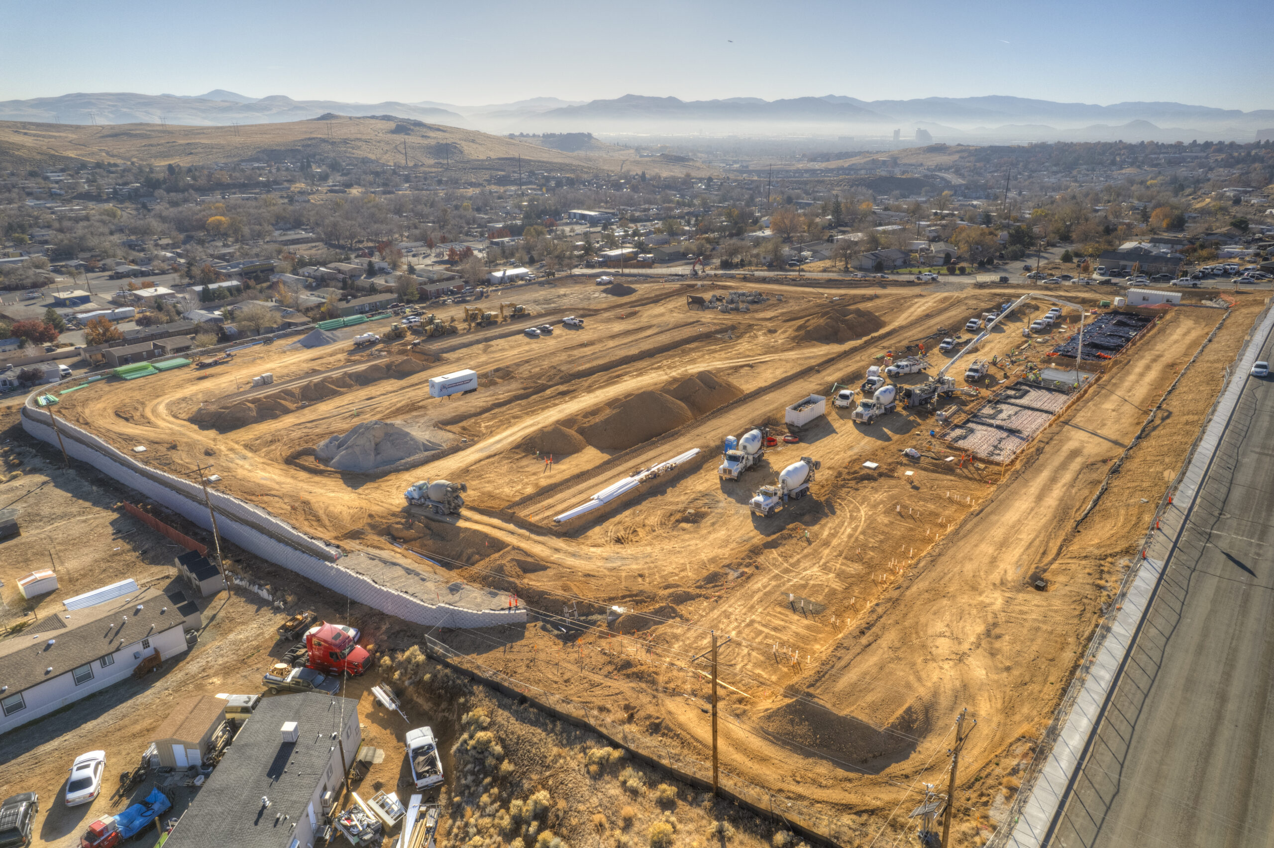
{"type": "Polygon", "coordinates": [[[275,124],[325,113],[404,118],[487,132],[705,134],[755,136],[892,135],[927,130],[938,141],[1107,140],[1250,141],[1274,127],[1274,110],[1242,112],[1185,103],[1055,103],[1020,97],[927,97],[861,101],[841,94],[764,101],[731,97],[682,101],[626,94],[589,102],[538,97],[513,103],[456,106],[422,101],[345,103],[294,101],[282,94],[246,97],[224,89],[205,94],[64,94],[0,102],[0,120],[62,124],[215,126],[275,124]]]}

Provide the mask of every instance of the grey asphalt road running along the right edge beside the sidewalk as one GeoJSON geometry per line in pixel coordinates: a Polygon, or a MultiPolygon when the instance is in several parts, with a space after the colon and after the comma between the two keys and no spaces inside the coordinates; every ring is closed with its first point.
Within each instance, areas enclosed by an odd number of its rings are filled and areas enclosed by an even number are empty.
{"type": "Polygon", "coordinates": [[[1052,845],[1274,845],[1274,381],[1246,379],[1052,845]]]}

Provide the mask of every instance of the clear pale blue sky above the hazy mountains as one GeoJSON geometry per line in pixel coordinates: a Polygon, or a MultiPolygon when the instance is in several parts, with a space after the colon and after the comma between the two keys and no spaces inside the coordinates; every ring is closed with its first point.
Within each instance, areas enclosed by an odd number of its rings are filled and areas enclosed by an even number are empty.
{"type": "Polygon", "coordinates": [[[1269,0],[0,0],[0,99],[1012,94],[1274,108],[1269,0]],[[733,41],[733,43],[731,43],[733,41]]]}

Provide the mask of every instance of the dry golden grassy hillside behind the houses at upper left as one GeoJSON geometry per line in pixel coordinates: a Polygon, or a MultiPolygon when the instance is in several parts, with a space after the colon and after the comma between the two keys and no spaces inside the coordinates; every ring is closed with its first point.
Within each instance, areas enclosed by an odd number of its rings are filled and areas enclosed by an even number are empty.
{"type": "MultiPolygon", "coordinates": [[[[325,116],[289,124],[247,126],[161,126],[122,124],[0,122],[0,166],[68,168],[82,162],[168,163],[282,162],[310,158],[367,159],[413,168],[447,162],[474,172],[527,171],[618,172],[636,157],[624,148],[590,141],[578,152],[437,124],[375,117],[325,116]]],[[[657,174],[710,173],[696,163],[643,159],[641,169],[657,174]]]]}

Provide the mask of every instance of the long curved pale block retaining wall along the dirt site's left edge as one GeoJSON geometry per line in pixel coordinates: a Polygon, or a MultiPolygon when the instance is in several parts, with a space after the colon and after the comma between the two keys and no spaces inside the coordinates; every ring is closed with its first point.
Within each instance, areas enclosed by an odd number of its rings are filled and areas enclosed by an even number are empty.
{"type": "MultiPolygon", "coordinates": [[[[39,409],[34,399],[36,395],[28,397],[22,409],[22,428],[41,442],[57,447],[57,434],[54,433],[50,415],[39,409]]],[[[141,465],[61,418],[57,419],[57,430],[61,433],[68,456],[92,465],[102,474],[162,503],[204,530],[211,530],[201,486],[141,465]]],[[[307,536],[265,509],[223,491],[209,489],[208,494],[217,511],[217,528],[223,539],[352,601],[426,626],[484,628],[526,621],[526,610],[466,610],[447,604],[426,604],[410,595],[380,586],[368,577],[338,565],[336,560],[340,559],[338,548],[307,536]]]]}

